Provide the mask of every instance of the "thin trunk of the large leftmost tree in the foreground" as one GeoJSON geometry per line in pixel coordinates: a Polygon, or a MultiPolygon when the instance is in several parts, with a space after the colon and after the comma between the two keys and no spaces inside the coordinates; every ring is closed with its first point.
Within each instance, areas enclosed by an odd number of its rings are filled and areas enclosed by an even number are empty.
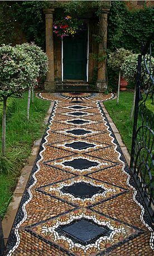
{"type": "Polygon", "coordinates": [[[6,106],[7,97],[3,97],[3,117],[2,117],[2,155],[6,155],[6,106]]]}

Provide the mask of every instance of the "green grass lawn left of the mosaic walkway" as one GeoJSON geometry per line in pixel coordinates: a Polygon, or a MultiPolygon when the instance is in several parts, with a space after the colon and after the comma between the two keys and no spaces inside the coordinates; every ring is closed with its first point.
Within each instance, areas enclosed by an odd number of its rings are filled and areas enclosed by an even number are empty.
{"type": "MultiPolygon", "coordinates": [[[[13,113],[7,117],[7,159],[0,159],[0,215],[3,217],[11,201],[21,169],[30,155],[33,142],[45,130],[43,120],[50,102],[35,97],[30,107],[30,121],[26,119],[27,93],[23,99],[15,99],[13,113]],[[3,170],[2,170],[3,167],[3,170]]],[[[0,123],[0,136],[2,125],[0,123]]],[[[1,142],[0,142],[1,147],[1,142]]],[[[1,151],[0,151],[1,152],[1,151]]]]}

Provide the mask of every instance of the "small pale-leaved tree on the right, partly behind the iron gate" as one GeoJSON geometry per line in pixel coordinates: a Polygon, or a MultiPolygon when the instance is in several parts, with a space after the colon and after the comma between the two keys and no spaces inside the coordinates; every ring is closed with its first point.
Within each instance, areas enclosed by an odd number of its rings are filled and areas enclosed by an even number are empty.
{"type": "MultiPolygon", "coordinates": [[[[135,98],[136,98],[137,62],[138,62],[138,54],[131,54],[126,57],[126,59],[124,60],[121,66],[121,71],[123,73],[124,79],[126,79],[126,81],[132,81],[135,84],[131,118],[133,118],[134,104],[135,104],[135,98]]],[[[143,63],[143,60],[142,60],[142,63],[143,63]]],[[[154,58],[151,57],[151,70],[153,69],[153,67],[154,67],[154,58]]],[[[147,67],[147,68],[150,69],[150,67],[147,67]]],[[[150,76],[147,74],[145,64],[142,65],[141,77],[143,80],[143,84],[146,87],[146,85],[148,85],[148,83],[150,82],[150,76]]]]}

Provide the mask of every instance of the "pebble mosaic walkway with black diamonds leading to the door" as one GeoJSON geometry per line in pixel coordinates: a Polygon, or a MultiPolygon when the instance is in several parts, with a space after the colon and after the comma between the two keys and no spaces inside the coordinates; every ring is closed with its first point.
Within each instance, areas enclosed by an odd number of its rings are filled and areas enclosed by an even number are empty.
{"type": "Polygon", "coordinates": [[[150,218],[100,105],[113,95],[39,96],[55,103],[5,255],[154,255],[150,218]]]}

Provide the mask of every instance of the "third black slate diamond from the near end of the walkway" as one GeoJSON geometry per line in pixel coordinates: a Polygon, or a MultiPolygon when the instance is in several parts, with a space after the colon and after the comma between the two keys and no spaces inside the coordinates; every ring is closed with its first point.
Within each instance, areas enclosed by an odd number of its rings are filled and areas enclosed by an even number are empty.
{"type": "Polygon", "coordinates": [[[92,166],[97,166],[98,162],[79,158],[79,159],[74,159],[72,161],[66,161],[63,164],[65,166],[71,166],[74,169],[83,170],[83,169],[88,169],[89,167],[92,167],[92,166]]]}

